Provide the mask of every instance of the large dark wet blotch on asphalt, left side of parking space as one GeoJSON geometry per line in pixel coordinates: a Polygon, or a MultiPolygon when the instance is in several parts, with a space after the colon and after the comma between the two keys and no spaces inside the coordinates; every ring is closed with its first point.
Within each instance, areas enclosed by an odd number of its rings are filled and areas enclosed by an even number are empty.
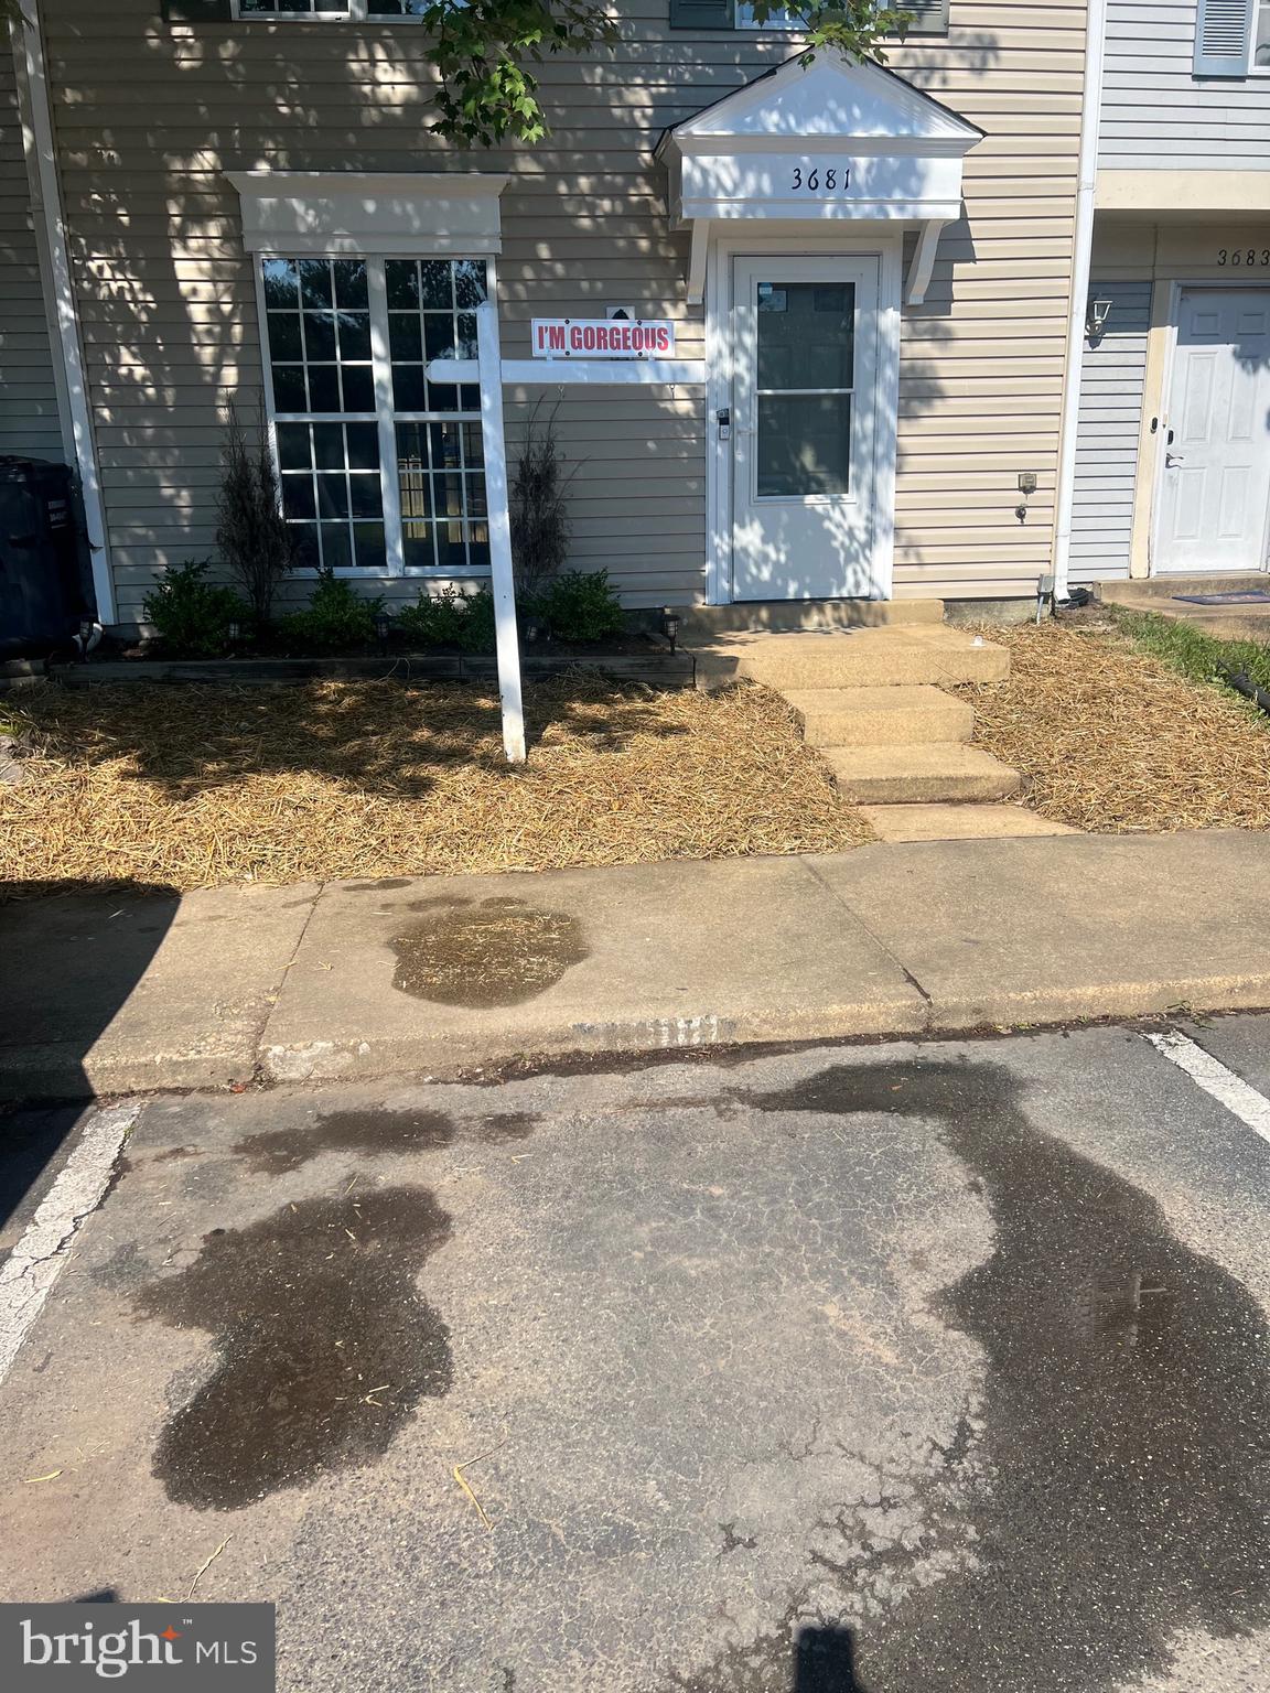
{"type": "Polygon", "coordinates": [[[310,1199],[212,1231],[196,1263],[142,1288],[142,1317],[205,1329],[220,1354],[159,1439],[168,1497],[239,1510],[381,1458],[450,1385],[449,1329],[415,1292],[449,1234],[427,1188],[310,1199]]]}

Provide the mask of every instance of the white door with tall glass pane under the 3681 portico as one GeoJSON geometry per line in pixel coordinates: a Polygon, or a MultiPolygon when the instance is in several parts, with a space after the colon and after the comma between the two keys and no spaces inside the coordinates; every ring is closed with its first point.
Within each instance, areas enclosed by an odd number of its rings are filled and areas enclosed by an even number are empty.
{"type": "Polygon", "coordinates": [[[875,257],[733,259],[733,599],[889,593],[875,508],[879,284],[875,257]]]}

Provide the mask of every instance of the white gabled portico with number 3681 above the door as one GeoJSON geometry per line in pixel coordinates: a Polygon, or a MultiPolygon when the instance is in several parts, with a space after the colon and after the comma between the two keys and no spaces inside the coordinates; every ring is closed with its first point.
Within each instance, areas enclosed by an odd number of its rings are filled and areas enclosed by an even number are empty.
{"type": "Polygon", "coordinates": [[[881,64],[825,49],[809,64],[789,59],[657,146],[674,227],[694,237],[689,298],[699,298],[704,240],[721,218],[921,225],[928,278],[938,230],[960,217],[962,159],[982,134],[881,64]]]}

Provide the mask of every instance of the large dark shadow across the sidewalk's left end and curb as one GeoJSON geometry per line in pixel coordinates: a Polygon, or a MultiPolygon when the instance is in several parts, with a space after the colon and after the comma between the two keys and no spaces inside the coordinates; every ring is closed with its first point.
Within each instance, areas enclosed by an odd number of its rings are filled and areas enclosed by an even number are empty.
{"type": "Polygon", "coordinates": [[[95,1097],[85,1062],[179,904],[152,882],[0,884],[0,1261],[95,1097]]]}

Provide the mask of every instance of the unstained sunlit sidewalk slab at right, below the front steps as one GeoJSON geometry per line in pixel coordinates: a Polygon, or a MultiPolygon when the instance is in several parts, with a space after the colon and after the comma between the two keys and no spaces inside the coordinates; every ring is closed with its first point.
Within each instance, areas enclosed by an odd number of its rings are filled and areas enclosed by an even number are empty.
{"type": "Polygon", "coordinates": [[[931,1029],[1270,1006],[1270,835],[879,843],[809,860],[931,1029]]]}

